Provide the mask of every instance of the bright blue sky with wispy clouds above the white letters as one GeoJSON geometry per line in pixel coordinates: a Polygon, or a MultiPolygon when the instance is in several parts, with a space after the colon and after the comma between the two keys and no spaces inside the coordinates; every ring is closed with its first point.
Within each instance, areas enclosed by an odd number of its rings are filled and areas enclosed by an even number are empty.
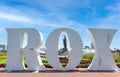
{"type": "Polygon", "coordinates": [[[120,49],[120,0],[0,0],[0,44],[7,44],[5,28],[36,28],[44,41],[59,27],[77,31],[90,45],[87,28],[115,28],[111,48],[120,49]]]}

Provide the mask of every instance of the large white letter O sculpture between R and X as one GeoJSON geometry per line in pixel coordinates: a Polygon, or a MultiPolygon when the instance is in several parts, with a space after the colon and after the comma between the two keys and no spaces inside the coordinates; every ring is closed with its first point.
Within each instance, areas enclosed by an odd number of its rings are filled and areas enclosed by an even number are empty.
{"type": "Polygon", "coordinates": [[[72,29],[69,28],[59,28],[54,30],[50,35],[48,36],[46,40],[46,57],[50,65],[61,71],[66,70],[72,70],[75,68],[82,59],[82,41],[79,37],[79,34],[75,32],[72,29]],[[66,67],[62,67],[59,58],[58,58],[58,40],[61,32],[67,32],[69,40],[70,40],[70,46],[72,50],[70,51],[70,60],[66,67]]]}

